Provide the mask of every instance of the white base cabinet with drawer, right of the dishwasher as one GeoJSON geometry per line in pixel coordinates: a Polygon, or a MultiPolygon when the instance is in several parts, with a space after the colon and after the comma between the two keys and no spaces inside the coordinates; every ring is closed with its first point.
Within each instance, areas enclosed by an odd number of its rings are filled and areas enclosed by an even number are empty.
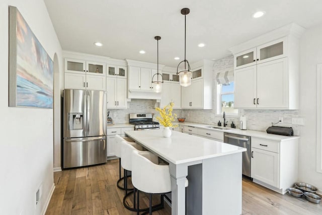
{"type": "Polygon", "coordinates": [[[253,181],[284,194],[298,178],[298,138],[281,141],[252,137],[253,181]]]}

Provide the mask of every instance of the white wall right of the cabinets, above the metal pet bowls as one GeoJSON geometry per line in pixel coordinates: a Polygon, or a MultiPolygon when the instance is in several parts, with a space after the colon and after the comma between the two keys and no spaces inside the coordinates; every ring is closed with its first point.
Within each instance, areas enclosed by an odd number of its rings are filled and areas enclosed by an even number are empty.
{"type": "Polygon", "coordinates": [[[300,43],[299,181],[322,190],[322,174],[316,172],[316,65],[322,63],[322,25],[306,30],[300,43]]]}

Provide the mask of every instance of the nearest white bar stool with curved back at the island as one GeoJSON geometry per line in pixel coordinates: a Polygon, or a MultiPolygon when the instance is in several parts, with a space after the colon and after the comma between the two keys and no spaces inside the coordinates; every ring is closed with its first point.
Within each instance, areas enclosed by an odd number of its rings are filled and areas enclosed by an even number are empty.
{"type": "MultiPolygon", "coordinates": [[[[138,151],[132,152],[132,184],[137,189],[137,208],[139,208],[139,191],[149,194],[149,214],[164,208],[164,196],[171,192],[169,165],[159,165],[149,155],[138,151]],[[152,194],[161,195],[160,206],[152,207],[152,194]]],[[[188,179],[186,179],[186,187],[188,179]]],[[[139,211],[137,210],[137,214],[139,211]]],[[[146,213],[143,213],[146,214],[146,213]]]]}

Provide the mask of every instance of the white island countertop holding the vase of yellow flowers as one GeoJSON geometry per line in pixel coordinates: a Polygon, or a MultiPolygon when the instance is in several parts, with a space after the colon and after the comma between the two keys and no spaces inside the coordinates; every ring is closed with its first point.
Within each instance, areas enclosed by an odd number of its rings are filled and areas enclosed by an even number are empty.
{"type": "Polygon", "coordinates": [[[154,129],[125,133],[149,151],[176,165],[246,151],[245,148],[178,131],[172,131],[171,137],[164,137],[162,131],[154,129]]]}

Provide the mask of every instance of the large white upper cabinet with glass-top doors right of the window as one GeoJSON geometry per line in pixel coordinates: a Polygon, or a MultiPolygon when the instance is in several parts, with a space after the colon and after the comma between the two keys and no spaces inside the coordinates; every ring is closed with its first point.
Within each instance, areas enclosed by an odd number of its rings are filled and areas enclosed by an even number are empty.
{"type": "Polygon", "coordinates": [[[230,48],[234,54],[234,107],[299,108],[299,38],[290,24],[230,48]]]}

